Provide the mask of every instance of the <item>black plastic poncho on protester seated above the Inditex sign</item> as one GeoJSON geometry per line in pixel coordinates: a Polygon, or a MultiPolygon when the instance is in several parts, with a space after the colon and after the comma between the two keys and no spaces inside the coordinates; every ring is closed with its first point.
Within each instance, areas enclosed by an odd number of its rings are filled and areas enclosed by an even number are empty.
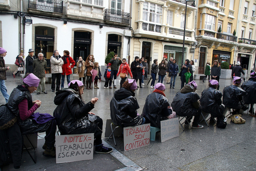
{"type": "Polygon", "coordinates": [[[54,104],[58,105],[53,112],[61,134],[94,133],[94,137],[102,133],[98,128],[95,115],[88,114],[94,105],[85,104],[76,91],[64,88],[56,92],[54,104]]]}

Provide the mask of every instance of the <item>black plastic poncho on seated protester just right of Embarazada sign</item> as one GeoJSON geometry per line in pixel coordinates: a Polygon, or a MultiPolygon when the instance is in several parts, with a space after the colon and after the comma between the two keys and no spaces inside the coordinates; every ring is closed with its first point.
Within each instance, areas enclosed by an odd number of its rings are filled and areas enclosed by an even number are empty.
{"type": "Polygon", "coordinates": [[[180,117],[191,117],[198,114],[198,109],[193,107],[193,103],[200,99],[199,95],[194,92],[194,88],[186,84],[180,92],[177,92],[171,107],[180,117]]]}

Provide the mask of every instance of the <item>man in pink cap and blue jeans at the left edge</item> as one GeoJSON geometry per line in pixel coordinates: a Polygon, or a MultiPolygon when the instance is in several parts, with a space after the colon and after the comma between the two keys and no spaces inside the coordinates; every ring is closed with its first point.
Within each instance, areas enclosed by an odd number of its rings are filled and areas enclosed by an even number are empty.
{"type": "Polygon", "coordinates": [[[8,103],[9,94],[7,93],[7,88],[4,80],[6,80],[6,71],[11,69],[11,67],[5,66],[3,57],[5,57],[6,54],[7,54],[7,51],[0,47],[0,89],[6,103],[8,103]]]}

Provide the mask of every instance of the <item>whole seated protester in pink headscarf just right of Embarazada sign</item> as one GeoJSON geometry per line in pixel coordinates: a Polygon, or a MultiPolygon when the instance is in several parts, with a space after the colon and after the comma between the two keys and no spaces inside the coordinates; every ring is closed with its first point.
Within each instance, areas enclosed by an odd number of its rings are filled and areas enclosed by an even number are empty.
{"type": "Polygon", "coordinates": [[[200,129],[203,128],[203,125],[199,125],[202,106],[199,101],[200,97],[195,92],[196,88],[197,84],[195,81],[186,84],[181,91],[177,92],[175,95],[171,107],[176,112],[177,116],[187,117],[185,126],[191,122],[194,116],[192,128],[200,129]]]}

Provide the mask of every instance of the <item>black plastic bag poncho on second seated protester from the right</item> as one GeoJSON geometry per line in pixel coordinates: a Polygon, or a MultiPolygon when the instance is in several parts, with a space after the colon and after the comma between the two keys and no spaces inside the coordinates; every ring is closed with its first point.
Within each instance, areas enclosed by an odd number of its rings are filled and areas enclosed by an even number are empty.
{"type": "Polygon", "coordinates": [[[227,108],[240,109],[240,101],[245,94],[246,92],[243,89],[240,89],[235,85],[225,87],[223,89],[223,104],[227,108]]]}

